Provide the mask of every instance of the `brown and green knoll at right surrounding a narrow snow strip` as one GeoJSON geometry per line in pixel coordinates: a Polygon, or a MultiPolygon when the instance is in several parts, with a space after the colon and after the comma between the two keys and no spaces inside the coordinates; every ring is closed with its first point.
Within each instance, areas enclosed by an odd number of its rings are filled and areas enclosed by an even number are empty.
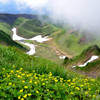
{"type": "Polygon", "coordinates": [[[64,61],[67,68],[71,68],[74,65],[76,66],[76,71],[84,72],[91,77],[100,77],[100,48],[97,45],[93,45],[84,50],[80,55],[74,57],[73,59],[66,59],[64,61]],[[88,61],[92,55],[97,55],[99,58],[91,63],[88,63],[85,67],[78,67],[78,65],[88,61]]]}

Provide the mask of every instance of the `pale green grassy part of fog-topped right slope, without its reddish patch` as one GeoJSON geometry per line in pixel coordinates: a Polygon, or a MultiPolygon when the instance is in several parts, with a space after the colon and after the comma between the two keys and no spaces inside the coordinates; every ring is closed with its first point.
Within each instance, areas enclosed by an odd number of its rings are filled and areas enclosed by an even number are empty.
{"type": "Polygon", "coordinates": [[[86,42],[79,43],[80,39],[82,38],[81,33],[79,32],[71,33],[69,32],[69,30],[59,31],[58,33],[55,33],[53,37],[54,37],[54,42],[61,50],[73,56],[81,54],[84,49],[87,49],[91,45],[95,44],[100,45],[99,38],[93,39],[87,43],[86,42]]]}

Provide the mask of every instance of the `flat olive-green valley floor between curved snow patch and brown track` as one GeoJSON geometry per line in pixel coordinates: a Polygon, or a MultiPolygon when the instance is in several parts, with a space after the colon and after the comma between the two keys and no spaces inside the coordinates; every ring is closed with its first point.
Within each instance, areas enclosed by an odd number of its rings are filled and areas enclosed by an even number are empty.
{"type": "Polygon", "coordinates": [[[35,41],[26,40],[26,42],[33,43],[36,45],[36,53],[34,56],[39,56],[58,64],[62,64],[63,60],[59,58],[59,56],[55,53],[50,45],[47,43],[38,43],[35,41]]]}

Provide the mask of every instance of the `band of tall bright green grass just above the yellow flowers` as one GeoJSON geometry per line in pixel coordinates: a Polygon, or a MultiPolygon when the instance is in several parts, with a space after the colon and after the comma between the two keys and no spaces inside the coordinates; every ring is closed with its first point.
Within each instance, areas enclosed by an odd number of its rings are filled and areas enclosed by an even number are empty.
{"type": "Polygon", "coordinates": [[[19,49],[5,47],[0,45],[0,66],[2,68],[11,69],[12,66],[16,66],[16,69],[22,67],[24,70],[35,70],[39,74],[48,74],[52,72],[54,76],[60,76],[64,79],[68,79],[68,72],[62,66],[51,62],[49,60],[29,56],[19,49]]]}

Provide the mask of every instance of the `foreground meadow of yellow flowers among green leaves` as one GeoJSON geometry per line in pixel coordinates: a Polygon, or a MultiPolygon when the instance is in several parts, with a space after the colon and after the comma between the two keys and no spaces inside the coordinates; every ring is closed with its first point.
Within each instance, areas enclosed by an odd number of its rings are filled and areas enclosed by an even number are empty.
{"type": "Polygon", "coordinates": [[[0,100],[100,100],[100,83],[87,77],[63,79],[23,68],[0,68],[0,100]]]}

